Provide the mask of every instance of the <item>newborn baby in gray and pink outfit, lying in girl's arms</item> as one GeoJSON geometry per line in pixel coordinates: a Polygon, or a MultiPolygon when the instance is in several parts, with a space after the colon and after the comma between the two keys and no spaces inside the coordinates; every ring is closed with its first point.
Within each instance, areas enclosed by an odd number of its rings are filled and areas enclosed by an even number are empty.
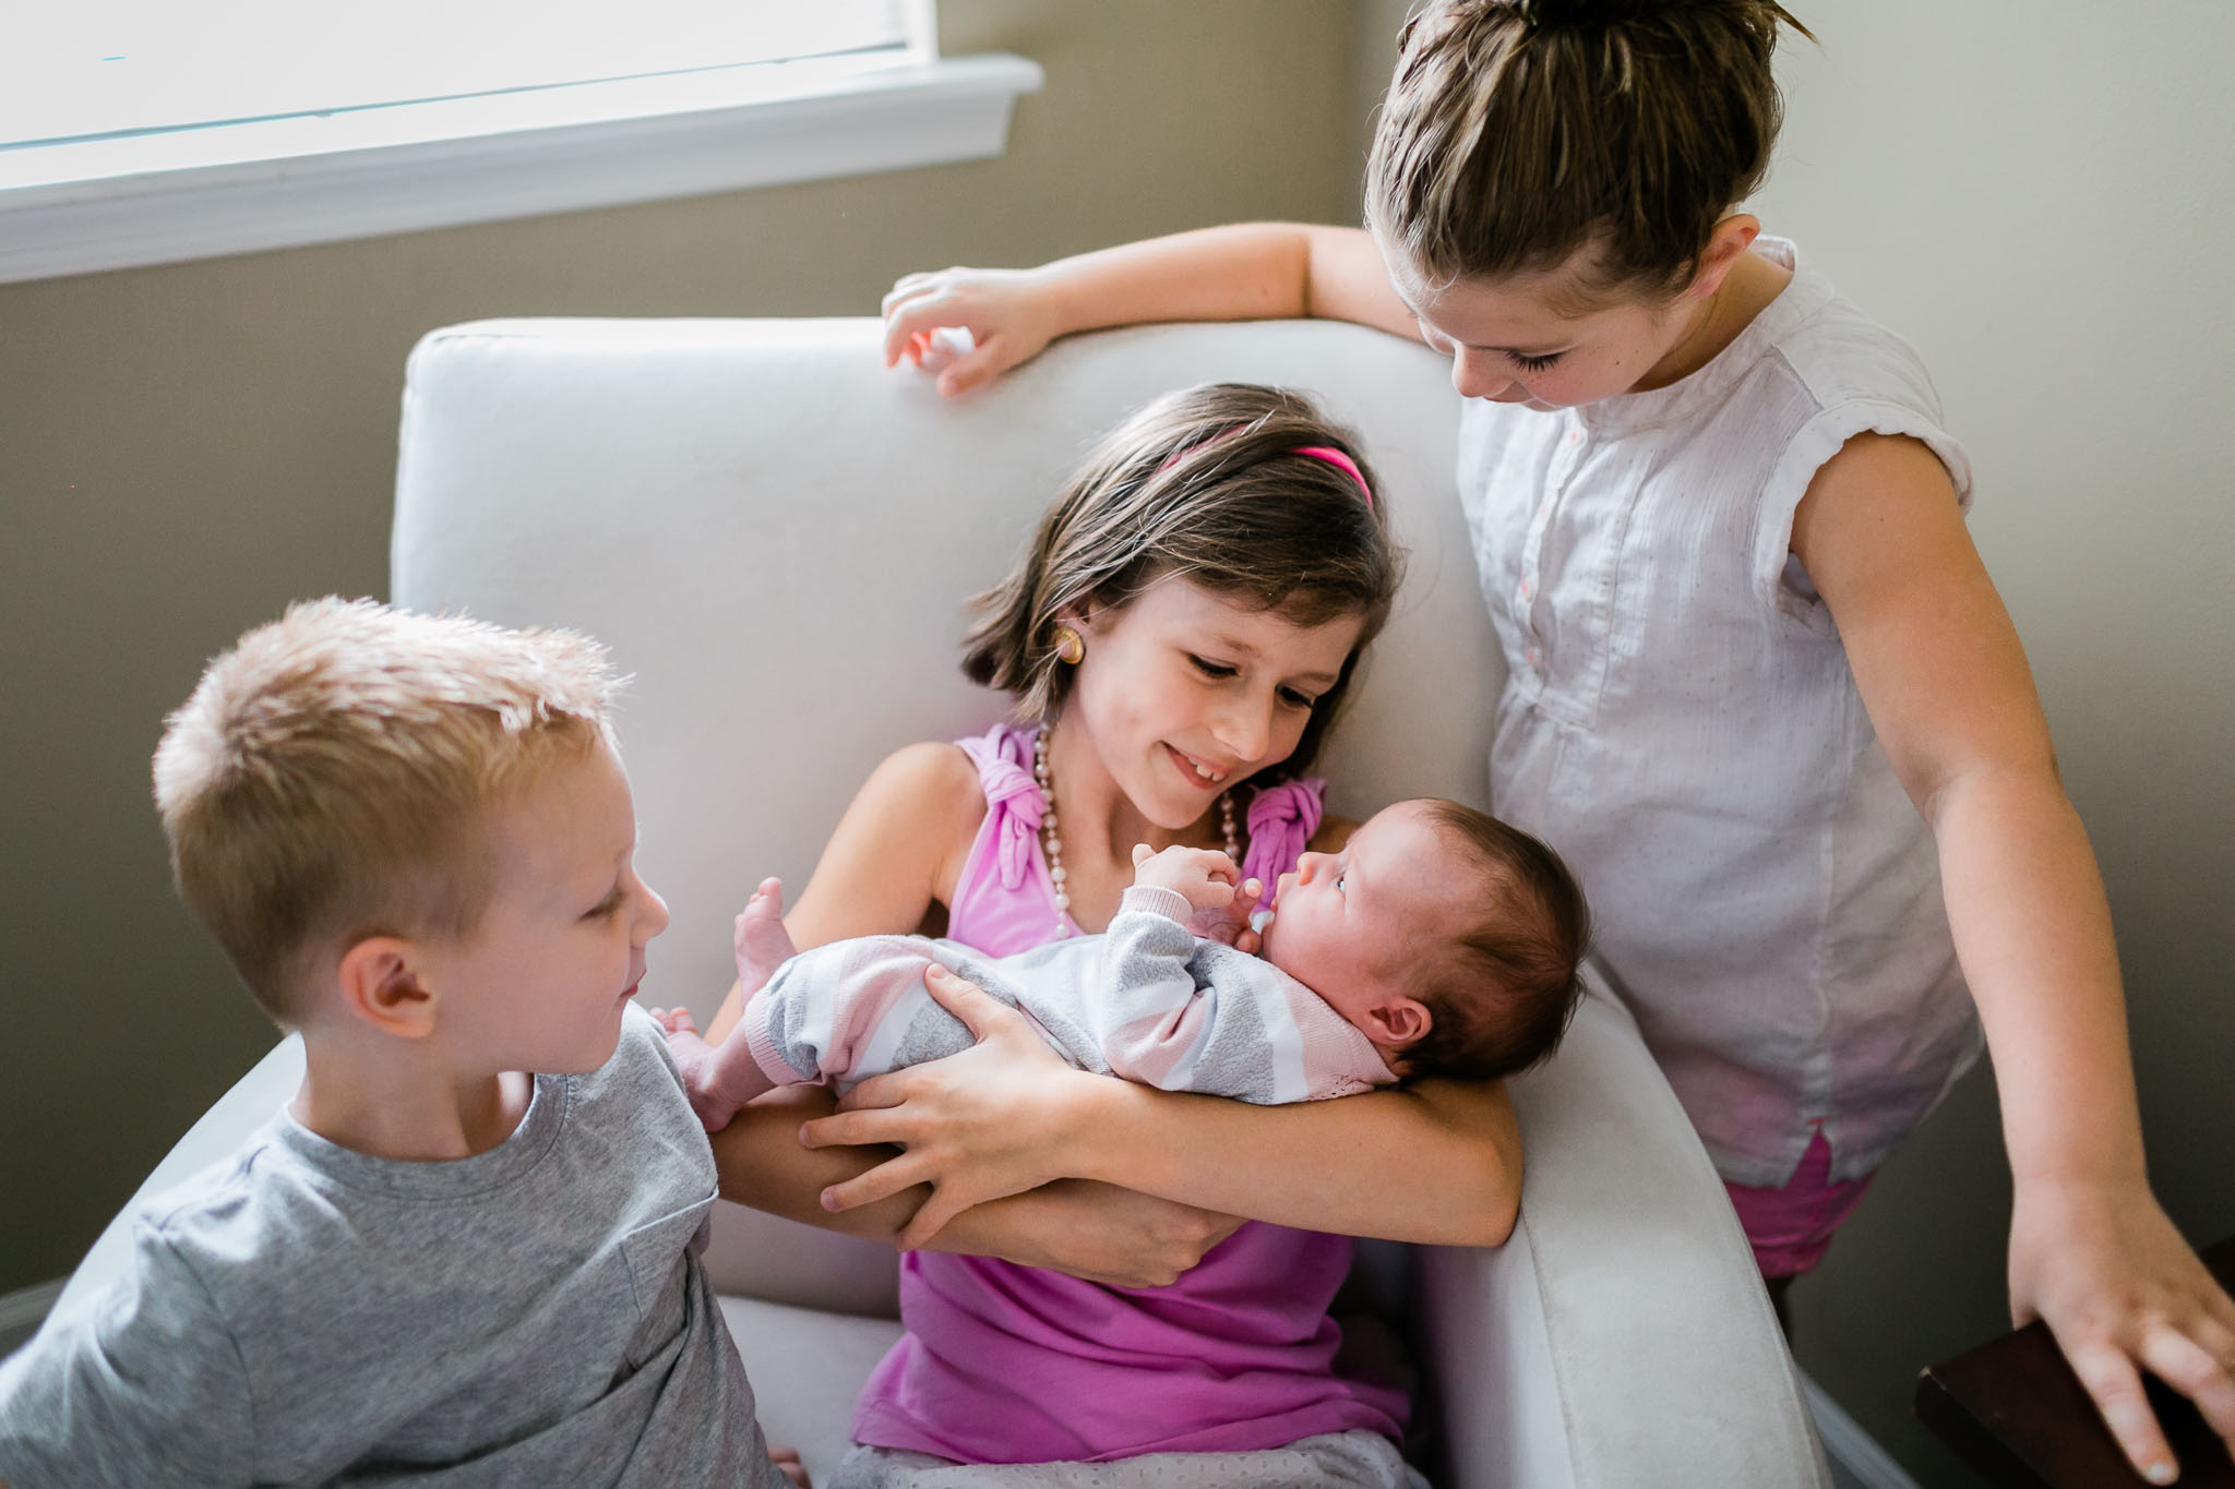
{"type": "Polygon", "coordinates": [[[968,1049],[923,987],[932,962],[1028,1014],[1082,1069],[1256,1103],[1504,1076],[1544,1058],[1576,1007],[1582,891],[1544,844],[1457,801],[1399,801],[1341,853],[1305,853],[1276,886],[1263,960],[1189,931],[1234,897],[1225,853],[1142,844],[1102,935],[1006,958],[928,935],[796,951],[769,880],[738,915],[746,1002],[731,1038],[708,1047],[686,1011],[655,1016],[715,1132],[776,1085],[845,1089],[968,1049]]]}

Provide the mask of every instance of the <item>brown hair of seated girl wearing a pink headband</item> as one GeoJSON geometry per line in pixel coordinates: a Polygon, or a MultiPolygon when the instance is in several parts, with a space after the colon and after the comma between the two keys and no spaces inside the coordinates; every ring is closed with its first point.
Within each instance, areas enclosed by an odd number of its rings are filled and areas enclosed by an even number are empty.
{"type": "Polygon", "coordinates": [[[1359,440],[1287,388],[1214,382],[1167,393],[1104,435],[1017,567],[972,601],[963,672],[1015,694],[1019,717],[1046,719],[1071,690],[1055,656],[1062,616],[1124,609],[1169,576],[1294,625],[1363,621],[1296,750],[1256,779],[1303,772],[1404,576],[1359,440]],[[1301,453],[1314,444],[1345,453],[1366,489],[1301,453]]]}

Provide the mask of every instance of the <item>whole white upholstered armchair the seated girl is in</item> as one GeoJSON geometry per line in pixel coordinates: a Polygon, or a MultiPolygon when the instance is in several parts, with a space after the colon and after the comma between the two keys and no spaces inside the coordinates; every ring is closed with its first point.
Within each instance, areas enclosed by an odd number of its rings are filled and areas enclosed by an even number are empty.
{"type": "MultiPolygon", "coordinates": [[[[885,752],[999,712],[957,670],[961,601],[1006,569],[1097,431],[1191,382],[1314,393],[1363,435],[1413,551],[1330,743],[1334,808],[1484,801],[1500,661],[1439,359],[1334,324],[1164,326],[1064,342],[943,404],[876,348],[867,319],[483,321],[411,357],[393,598],[581,627],[637,679],[621,743],[639,862],[675,911],[648,1000],[711,1016],[751,884],[802,884],[885,752]]],[[[282,1043],[150,1188],[261,1121],[299,1063],[282,1043]]],[[[1737,1221],[1629,1016],[1587,998],[1515,1101],[1529,1172],[1513,1239],[1370,1252],[1410,1279],[1442,1482],[1828,1485],[1737,1221]]],[[[112,1226],[60,1306],[125,1250],[112,1226]]],[[[769,1438],[827,1473],[898,1328],[892,1255],[722,1205],[708,1261],[769,1438]]]]}

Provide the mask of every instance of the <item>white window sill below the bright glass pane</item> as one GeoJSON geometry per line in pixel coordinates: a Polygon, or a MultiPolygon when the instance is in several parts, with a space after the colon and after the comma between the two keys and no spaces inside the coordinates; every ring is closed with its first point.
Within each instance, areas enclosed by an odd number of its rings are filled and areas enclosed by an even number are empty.
{"type": "Polygon", "coordinates": [[[0,150],[0,284],[981,161],[1039,85],[818,58],[0,150]]]}

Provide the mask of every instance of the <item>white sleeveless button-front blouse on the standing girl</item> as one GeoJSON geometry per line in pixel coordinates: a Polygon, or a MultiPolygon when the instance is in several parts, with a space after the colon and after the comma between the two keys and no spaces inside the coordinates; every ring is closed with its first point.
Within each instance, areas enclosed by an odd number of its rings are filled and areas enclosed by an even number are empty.
{"type": "Polygon", "coordinates": [[[1459,491],[1511,676],[1502,817],[1567,859],[1589,971],[1636,1014],[1725,1179],[1781,1185],[1822,1125],[1877,1168],[1978,1056],[1931,833],[1790,556],[1864,431],[1929,444],[1918,355],[1804,263],[1690,377],[1585,409],[1468,400],[1459,491]]]}

